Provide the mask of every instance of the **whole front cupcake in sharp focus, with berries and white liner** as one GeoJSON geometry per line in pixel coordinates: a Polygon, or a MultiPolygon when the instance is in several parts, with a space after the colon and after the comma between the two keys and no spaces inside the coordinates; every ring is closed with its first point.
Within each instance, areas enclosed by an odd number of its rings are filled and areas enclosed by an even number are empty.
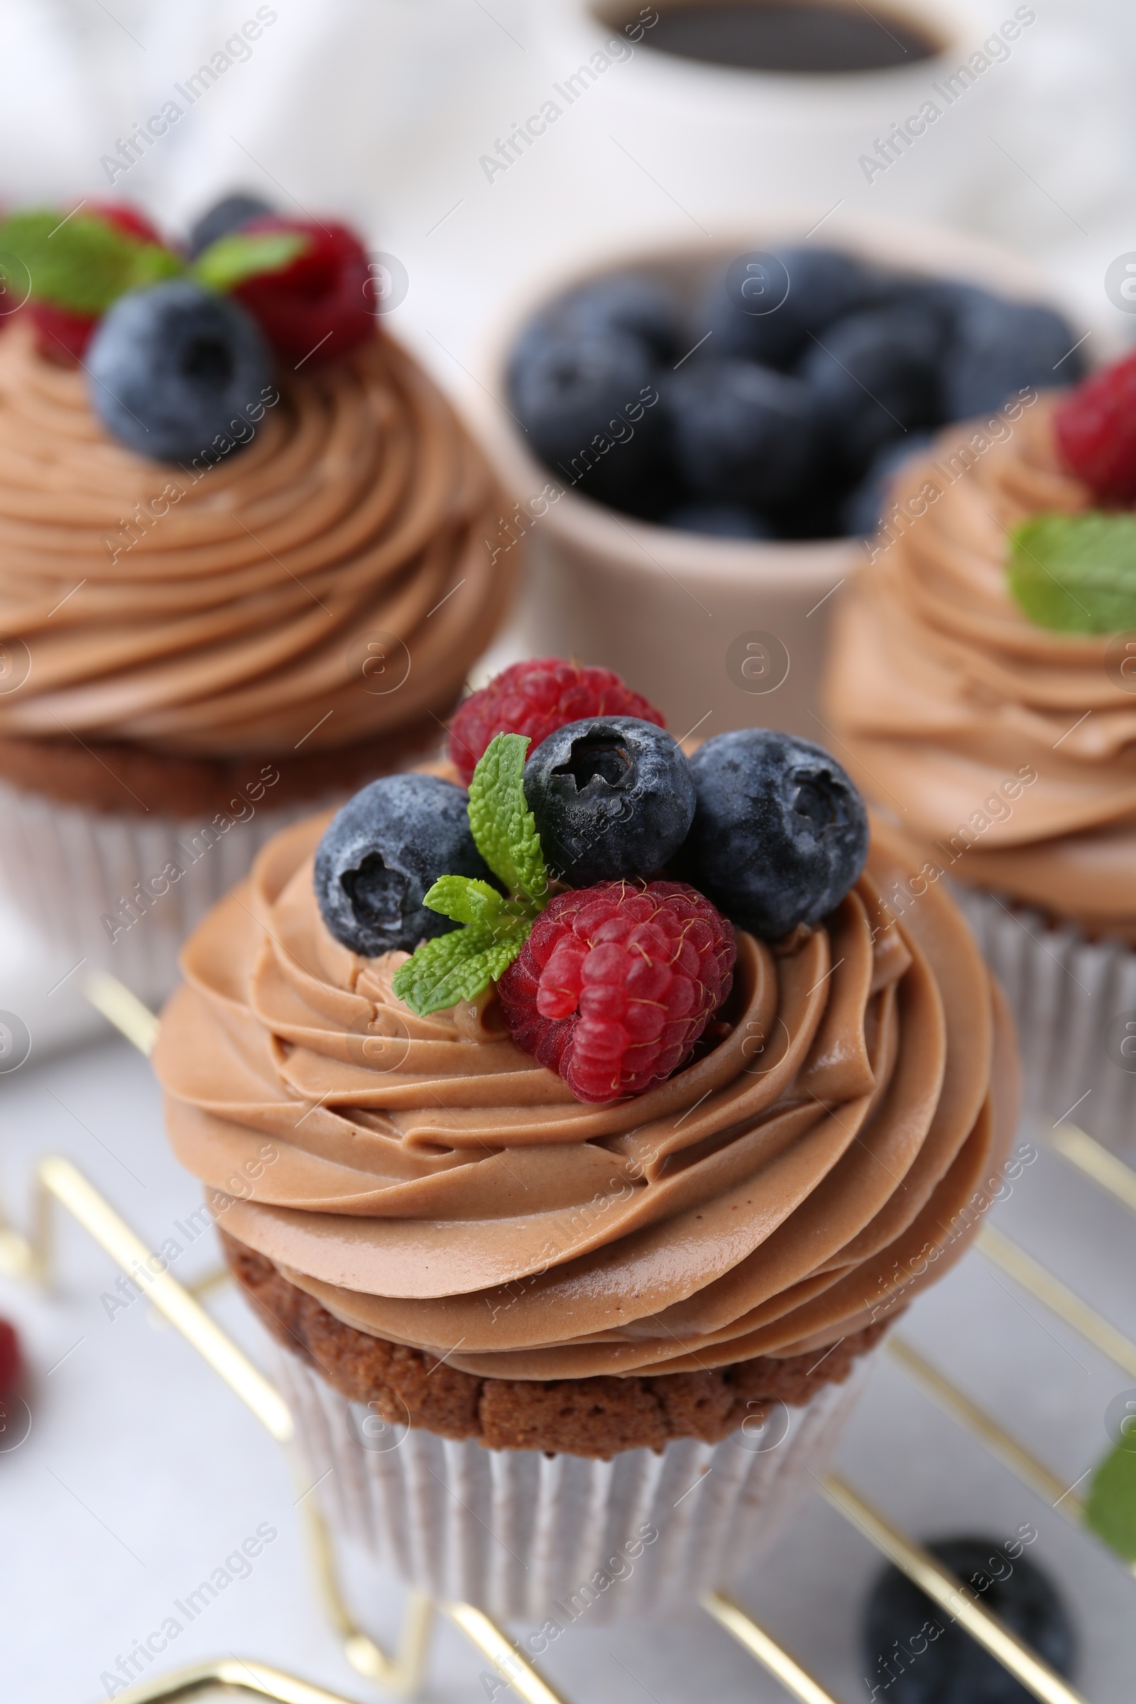
{"type": "Polygon", "coordinates": [[[516,666],[448,775],[261,852],[153,1055],[334,1528],[557,1629],[760,1559],[1017,1111],[966,924],[887,910],[840,765],[659,722],[516,666]]]}

